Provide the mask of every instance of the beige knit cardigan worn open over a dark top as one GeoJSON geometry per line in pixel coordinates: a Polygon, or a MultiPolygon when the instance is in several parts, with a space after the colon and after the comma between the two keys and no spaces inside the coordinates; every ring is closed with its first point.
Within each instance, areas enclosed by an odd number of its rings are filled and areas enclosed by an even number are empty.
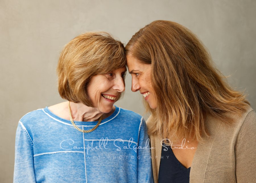
{"type": "MultiPolygon", "coordinates": [[[[206,126],[210,138],[199,143],[189,175],[189,182],[256,182],[256,115],[252,108],[233,116],[235,122],[224,126],[209,117],[206,126]]],[[[147,125],[154,125],[150,116],[147,125]]],[[[162,145],[156,136],[150,136],[154,182],[158,171],[162,145]]]]}

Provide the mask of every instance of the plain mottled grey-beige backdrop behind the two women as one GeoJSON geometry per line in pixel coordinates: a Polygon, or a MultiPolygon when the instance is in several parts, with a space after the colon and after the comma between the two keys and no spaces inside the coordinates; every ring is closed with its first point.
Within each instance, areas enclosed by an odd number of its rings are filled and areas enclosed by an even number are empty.
{"type": "MultiPolygon", "coordinates": [[[[217,67],[256,108],[256,1],[0,0],[0,182],[13,181],[15,132],[32,110],[62,102],[55,68],[63,46],[82,32],[104,30],[124,43],[153,20],[183,24],[203,41],[217,67]]],[[[131,77],[117,106],[144,114],[131,77]]],[[[57,129],[56,129],[57,130],[57,129]]]]}

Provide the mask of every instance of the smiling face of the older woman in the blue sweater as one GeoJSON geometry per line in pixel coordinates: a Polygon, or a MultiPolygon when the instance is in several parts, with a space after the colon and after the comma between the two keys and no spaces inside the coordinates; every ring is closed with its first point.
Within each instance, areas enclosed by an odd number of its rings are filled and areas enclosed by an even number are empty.
{"type": "Polygon", "coordinates": [[[108,113],[113,104],[125,91],[126,68],[116,69],[104,75],[95,75],[91,78],[87,87],[87,93],[95,108],[100,112],[108,113]]]}

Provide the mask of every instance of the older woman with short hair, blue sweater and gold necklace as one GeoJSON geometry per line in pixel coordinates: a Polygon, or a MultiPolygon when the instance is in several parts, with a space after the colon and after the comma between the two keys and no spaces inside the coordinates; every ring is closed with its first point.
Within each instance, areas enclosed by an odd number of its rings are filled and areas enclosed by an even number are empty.
{"type": "Polygon", "coordinates": [[[68,101],[20,119],[14,182],[152,182],[143,118],[113,106],[125,90],[125,62],[123,44],[106,32],[65,46],[57,73],[68,101]]]}

